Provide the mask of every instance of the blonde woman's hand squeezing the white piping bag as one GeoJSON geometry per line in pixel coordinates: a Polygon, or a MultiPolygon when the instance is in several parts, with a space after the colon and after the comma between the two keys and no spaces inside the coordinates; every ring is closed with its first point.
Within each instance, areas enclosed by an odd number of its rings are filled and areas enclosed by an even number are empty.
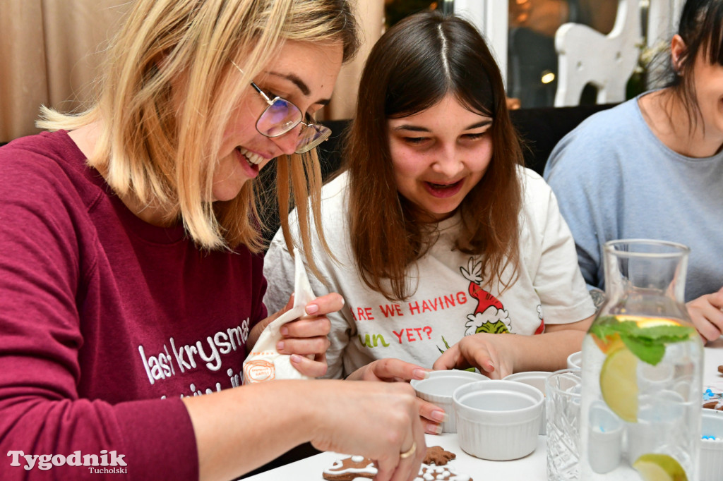
{"type": "MultiPolygon", "coordinates": [[[[281,311],[254,326],[247,342],[249,351],[263,329],[293,306],[292,295],[281,311]]],[[[328,368],[326,350],[330,345],[327,336],[331,329],[331,321],[325,315],[336,312],[343,306],[344,300],[341,295],[337,293],[322,295],[305,306],[307,317],[291,321],[281,327],[283,339],[276,344],[276,350],[281,354],[291,355],[291,365],[294,365],[296,371],[312,378],[326,373],[328,368]]]]}

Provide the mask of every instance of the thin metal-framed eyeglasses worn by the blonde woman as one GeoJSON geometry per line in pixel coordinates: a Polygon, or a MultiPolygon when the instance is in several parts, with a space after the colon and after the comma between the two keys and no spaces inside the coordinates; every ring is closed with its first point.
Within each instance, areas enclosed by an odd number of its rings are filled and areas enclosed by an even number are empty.
{"type": "MultiPolygon", "coordinates": [[[[234,61],[232,64],[244,73],[234,61]]],[[[296,140],[297,154],[309,152],[309,150],[317,147],[331,135],[331,129],[317,123],[306,123],[302,120],[301,110],[293,103],[281,97],[274,97],[273,100],[266,95],[257,84],[251,82],[251,86],[264,97],[268,107],[261,113],[256,121],[256,130],[259,134],[270,138],[280,137],[288,134],[299,123],[301,123],[301,131],[299,131],[299,139],[296,140]]]]}

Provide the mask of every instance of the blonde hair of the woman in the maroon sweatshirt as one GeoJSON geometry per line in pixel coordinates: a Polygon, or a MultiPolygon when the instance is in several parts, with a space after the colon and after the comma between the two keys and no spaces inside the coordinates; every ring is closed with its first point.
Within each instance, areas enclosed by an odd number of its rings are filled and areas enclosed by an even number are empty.
{"type": "MultiPolygon", "coordinates": [[[[43,108],[37,124],[71,130],[102,121],[87,162],[104,173],[114,191],[168,212],[169,223],[180,218],[202,248],[244,244],[260,251],[254,182],[244,183],[233,200],[209,199],[236,100],[284,40],[341,41],[344,61],[359,46],[346,0],[138,0],[108,51],[95,104],[77,115],[43,108]],[[232,61],[243,69],[240,77],[232,61]],[[172,82],[181,84],[181,92],[171,90],[172,82]]],[[[307,196],[320,218],[317,157],[312,152],[277,162],[286,241],[291,243],[284,209],[293,192],[306,247],[307,196]]]]}

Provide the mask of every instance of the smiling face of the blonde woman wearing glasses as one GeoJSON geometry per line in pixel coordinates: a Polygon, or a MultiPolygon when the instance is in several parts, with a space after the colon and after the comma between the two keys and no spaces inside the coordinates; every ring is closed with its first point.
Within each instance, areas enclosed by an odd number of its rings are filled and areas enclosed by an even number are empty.
{"type": "MultiPolygon", "coordinates": [[[[329,102],[341,69],[342,53],[341,43],[288,41],[254,78],[254,83],[272,100],[278,96],[294,103],[307,118],[329,102]]],[[[266,107],[262,95],[249,84],[223,134],[213,174],[214,201],[234,199],[244,183],[255,178],[269,160],[296,150],[301,124],[273,139],[256,130],[256,121],[266,107]]]]}

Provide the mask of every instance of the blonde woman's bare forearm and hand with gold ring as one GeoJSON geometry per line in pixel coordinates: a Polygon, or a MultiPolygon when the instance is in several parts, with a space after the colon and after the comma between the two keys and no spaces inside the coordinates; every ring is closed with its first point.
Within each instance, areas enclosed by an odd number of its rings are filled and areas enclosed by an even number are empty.
{"type": "Polygon", "coordinates": [[[414,389],[406,383],[280,379],[182,401],[201,480],[234,479],[311,441],[323,451],[373,459],[375,480],[411,481],[427,449],[414,389]]]}

